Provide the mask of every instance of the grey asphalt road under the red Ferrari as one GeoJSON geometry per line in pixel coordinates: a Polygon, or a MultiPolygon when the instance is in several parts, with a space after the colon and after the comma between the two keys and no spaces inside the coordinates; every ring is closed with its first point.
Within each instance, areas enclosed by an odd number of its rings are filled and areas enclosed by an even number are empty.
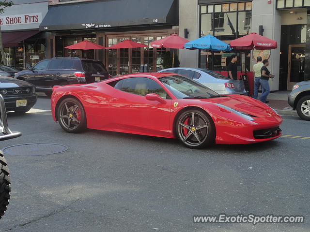
{"type": "MultiPolygon", "coordinates": [[[[46,156],[6,155],[9,232],[309,232],[310,139],[191,150],[165,138],[64,132],[40,96],[34,113],[8,113],[9,145],[67,145],[46,156]],[[302,224],[194,224],[193,215],[303,215],[302,224]]],[[[310,121],[283,116],[283,134],[310,137],[310,121]]]]}

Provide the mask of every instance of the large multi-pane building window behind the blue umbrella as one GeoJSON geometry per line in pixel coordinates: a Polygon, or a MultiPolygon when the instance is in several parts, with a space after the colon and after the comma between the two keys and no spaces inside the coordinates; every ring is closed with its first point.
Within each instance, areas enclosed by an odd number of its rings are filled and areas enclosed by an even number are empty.
{"type": "MultiPolygon", "coordinates": [[[[234,3],[223,3],[217,5],[201,5],[201,36],[213,35],[217,39],[229,43],[231,40],[247,35],[251,32],[252,2],[241,1],[234,3]]],[[[216,71],[226,70],[226,65],[230,62],[232,54],[215,53],[200,50],[200,67],[213,68],[216,71]],[[213,65],[212,65],[213,63],[213,65]]],[[[246,53],[246,59],[250,59],[250,51],[246,53]]],[[[241,53],[237,65],[241,69],[241,53]]],[[[246,62],[249,64],[249,62],[246,62]]],[[[246,67],[249,71],[249,67],[246,67]]]]}

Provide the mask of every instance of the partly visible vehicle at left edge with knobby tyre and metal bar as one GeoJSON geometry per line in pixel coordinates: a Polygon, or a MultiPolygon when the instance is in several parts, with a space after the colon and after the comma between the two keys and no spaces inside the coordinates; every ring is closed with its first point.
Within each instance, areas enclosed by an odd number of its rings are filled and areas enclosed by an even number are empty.
{"type": "MultiPolygon", "coordinates": [[[[8,128],[6,110],[2,96],[0,95],[0,141],[21,136],[21,132],[12,132],[8,128]]],[[[11,178],[7,162],[0,151],[0,219],[4,215],[10,200],[11,178]]]]}

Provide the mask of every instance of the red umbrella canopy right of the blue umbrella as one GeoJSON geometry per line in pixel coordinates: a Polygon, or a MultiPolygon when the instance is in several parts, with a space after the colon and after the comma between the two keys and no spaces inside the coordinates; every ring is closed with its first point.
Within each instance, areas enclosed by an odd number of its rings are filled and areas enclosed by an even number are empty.
{"type": "Polygon", "coordinates": [[[254,47],[258,50],[269,50],[277,48],[277,41],[252,32],[248,35],[232,40],[230,45],[239,50],[252,50],[254,47]]]}

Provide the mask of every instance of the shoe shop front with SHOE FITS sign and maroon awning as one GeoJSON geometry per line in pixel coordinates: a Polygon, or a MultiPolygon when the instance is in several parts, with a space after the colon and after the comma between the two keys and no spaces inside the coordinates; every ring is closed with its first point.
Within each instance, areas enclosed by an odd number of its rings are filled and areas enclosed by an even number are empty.
{"type": "Polygon", "coordinates": [[[45,59],[46,32],[39,31],[39,25],[47,9],[47,2],[25,0],[23,4],[7,7],[1,14],[0,25],[7,65],[22,70],[45,59]]]}

